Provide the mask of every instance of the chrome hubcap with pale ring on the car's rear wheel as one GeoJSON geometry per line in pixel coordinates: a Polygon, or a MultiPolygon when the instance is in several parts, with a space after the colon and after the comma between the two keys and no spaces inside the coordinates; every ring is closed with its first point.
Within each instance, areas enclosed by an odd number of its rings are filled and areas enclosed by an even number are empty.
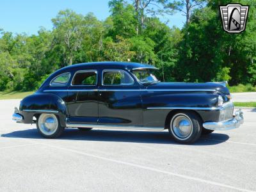
{"type": "Polygon", "coordinates": [[[42,114],[38,119],[40,131],[46,135],[52,135],[58,128],[58,120],[53,114],[42,114]]]}

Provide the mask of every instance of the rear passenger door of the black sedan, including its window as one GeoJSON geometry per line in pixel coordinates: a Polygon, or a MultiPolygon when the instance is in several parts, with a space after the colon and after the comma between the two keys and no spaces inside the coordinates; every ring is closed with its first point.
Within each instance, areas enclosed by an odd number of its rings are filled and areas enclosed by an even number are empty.
{"type": "Polygon", "coordinates": [[[74,75],[68,88],[68,122],[97,124],[98,86],[97,70],[80,70],[74,75]]]}

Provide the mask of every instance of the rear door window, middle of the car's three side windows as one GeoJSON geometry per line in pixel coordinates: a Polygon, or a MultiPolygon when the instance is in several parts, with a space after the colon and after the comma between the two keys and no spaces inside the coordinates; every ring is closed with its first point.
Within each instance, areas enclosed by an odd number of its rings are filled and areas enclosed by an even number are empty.
{"type": "Polygon", "coordinates": [[[77,71],[73,80],[72,85],[96,85],[97,84],[97,71],[96,70],[84,70],[77,71]]]}

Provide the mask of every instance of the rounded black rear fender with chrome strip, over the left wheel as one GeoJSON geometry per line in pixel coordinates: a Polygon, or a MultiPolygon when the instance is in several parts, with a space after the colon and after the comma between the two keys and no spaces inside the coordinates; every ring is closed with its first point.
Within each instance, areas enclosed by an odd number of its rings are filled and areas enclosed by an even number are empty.
{"type": "Polygon", "coordinates": [[[61,126],[65,127],[67,108],[65,102],[52,93],[34,93],[20,101],[19,113],[24,117],[24,124],[33,123],[33,116],[41,113],[54,113],[60,119],[61,126]]]}

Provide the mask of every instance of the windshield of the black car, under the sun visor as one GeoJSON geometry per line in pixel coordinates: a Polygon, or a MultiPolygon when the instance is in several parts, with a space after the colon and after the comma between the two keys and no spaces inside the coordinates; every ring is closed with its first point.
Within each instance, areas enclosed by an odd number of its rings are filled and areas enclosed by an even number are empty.
{"type": "Polygon", "coordinates": [[[139,79],[141,83],[157,83],[159,82],[152,74],[152,70],[149,69],[143,69],[143,70],[134,70],[132,73],[139,79]]]}

